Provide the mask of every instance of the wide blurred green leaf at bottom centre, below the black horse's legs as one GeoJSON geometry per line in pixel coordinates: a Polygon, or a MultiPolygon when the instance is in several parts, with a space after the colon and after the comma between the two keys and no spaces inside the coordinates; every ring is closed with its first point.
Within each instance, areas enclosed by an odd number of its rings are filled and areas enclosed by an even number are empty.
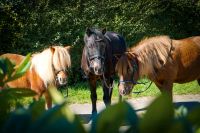
{"type": "MultiPolygon", "coordinates": [[[[92,122],[91,133],[116,133],[119,132],[123,122],[138,127],[138,117],[132,107],[121,102],[103,110],[92,122]]],[[[137,132],[137,128],[134,128],[137,132]]]]}

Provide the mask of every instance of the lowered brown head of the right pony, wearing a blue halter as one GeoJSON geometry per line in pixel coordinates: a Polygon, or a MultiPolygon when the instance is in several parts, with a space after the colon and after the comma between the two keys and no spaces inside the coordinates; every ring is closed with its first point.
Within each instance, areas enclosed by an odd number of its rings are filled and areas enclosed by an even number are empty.
{"type": "Polygon", "coordinates": [[[131,93],[133,86],[137,84],[138,76],[138,62],[134,54],[126,53],[122,55],[117,62],[116,72],[119,76],[119,93],[121,95],[128,95],[131,93]]]}

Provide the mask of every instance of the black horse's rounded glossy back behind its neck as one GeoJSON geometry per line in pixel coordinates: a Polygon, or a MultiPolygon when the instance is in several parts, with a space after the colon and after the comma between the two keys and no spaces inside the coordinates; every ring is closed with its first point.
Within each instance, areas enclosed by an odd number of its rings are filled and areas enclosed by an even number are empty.
{"type": "Polygon", "coordinates": [[[118,33],[107,31],[105,37],[108,39],[114,55],[123,54],[126,51],[125,40],[118,33]]]}

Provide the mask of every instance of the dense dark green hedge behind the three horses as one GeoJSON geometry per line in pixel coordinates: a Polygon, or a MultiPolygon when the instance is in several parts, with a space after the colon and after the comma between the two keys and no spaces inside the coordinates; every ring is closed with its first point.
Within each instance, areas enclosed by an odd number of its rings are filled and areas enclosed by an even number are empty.
{"type": "Polygon", "coordinates": [[[72,82],[80,80],[73,73],[79,72],[86,27],[119,32],[128,46],[147,36],[200,33],[200,0],[1,0],[0,15],[0,53],[74,45],[72,82]]]}

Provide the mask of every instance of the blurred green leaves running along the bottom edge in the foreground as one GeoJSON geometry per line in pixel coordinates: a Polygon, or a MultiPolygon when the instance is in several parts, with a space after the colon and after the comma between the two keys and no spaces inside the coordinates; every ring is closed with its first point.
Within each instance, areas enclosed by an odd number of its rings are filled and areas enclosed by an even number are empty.
{"type": "Polygon", "coordinates": [[[155,133],[155,132],[197,132],[200,129],[200,111],[197,106],[189,111],[186,107],[175,109],[168,95],[157,97],[139,116],[126,102],[112,105],[93,119],[91,128],[85,129],[78,116],[74,115],[67,102],[55,89],[49,90],[55,106],[46,111],[44,102],[34,102],[28,108],[14,110],[1,126],[1,132],[104,132],[104,133],[155,133]],[[178,115],[177,115],[178,114],[178,115]],[[122,126],[126,129],[120,131],[122,126]]]}

